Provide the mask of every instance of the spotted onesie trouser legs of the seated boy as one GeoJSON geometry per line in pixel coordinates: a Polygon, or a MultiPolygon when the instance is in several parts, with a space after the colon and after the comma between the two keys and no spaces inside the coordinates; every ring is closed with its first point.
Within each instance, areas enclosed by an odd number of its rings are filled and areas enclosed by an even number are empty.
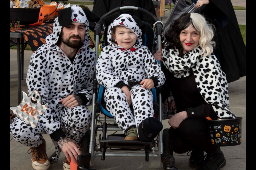
{"type": "Polygon", "coordinates": [[[130,92],[134,115],[128,105],[126,95],[121,88],[107,88],[104,94],[107,109],[112,116],[114,116],[118,127],[123,129],[123,133],[132,125],[138,128],[142,120],[147,117],[153,117],[154,115],[153,95],[151,90],[136,85],[131,88],[130,92]]]}

